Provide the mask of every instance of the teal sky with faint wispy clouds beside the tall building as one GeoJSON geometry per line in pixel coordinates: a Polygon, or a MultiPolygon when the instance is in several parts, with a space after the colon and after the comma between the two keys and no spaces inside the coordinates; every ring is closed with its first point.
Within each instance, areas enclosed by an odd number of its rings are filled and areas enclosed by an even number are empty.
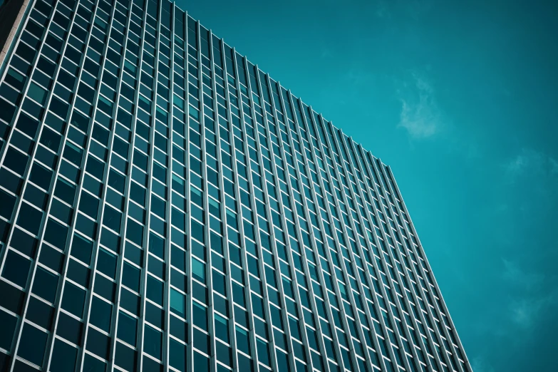
{"type": "Polygon", "coordinates": [[[557,1],[264,3],[182,7],[391,165],[475,372],[557,371],[557,1]]]}

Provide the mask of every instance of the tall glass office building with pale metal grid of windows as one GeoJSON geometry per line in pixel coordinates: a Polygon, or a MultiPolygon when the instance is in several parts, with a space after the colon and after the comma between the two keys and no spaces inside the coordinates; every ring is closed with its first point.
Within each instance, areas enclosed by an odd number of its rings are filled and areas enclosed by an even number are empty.
{"type": "Polygon", "coordinates": [[[10,3],[0,371],[471,370],[378,158],[170,1],[10,3]]]}

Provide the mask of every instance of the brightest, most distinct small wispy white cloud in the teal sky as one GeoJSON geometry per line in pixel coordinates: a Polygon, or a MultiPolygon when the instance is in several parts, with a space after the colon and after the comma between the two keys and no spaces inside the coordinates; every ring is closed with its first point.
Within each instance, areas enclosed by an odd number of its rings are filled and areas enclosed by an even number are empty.
{"type": "Polygon", "coordinates": [[[410,138],[415,140],[438,134],[442,126],[442,113],[428,79],[413,73],[410,83],[405,83],[399,93],[401,115],[398,127],[407,130],[410,138]]]}

